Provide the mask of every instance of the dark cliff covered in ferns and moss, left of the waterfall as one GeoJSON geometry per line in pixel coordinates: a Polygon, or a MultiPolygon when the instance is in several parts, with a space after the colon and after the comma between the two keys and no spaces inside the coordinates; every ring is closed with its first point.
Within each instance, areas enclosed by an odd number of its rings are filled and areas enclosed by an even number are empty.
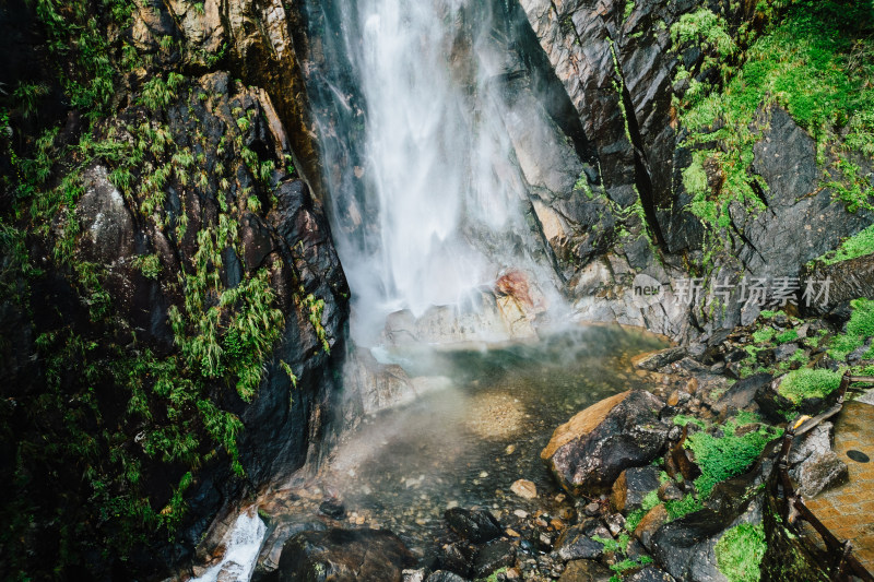
{"type": "Polygon", "coordinates": [[[0,578],[160,575],[329,430],[349,290],[294,17],[0,10],[0,578]]]}

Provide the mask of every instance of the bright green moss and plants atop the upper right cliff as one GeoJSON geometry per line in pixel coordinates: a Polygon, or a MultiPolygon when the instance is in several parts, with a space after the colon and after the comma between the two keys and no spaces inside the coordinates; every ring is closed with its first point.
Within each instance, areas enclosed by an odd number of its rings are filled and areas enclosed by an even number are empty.
{"type": "MultiPolygon", "coordinates": [[[[787,2],[759,4],[759,12],[773,13],[787,2]]],[[[860,170],[860,156],[874,155],[872,24],[866,2],[801,0],[745,50],[739,45],[752,38],[749,24],[732,29],[707,9],[672,27],[677,46],[705,49],[700,71],[716,71],[718,79],[682,67],[676,78],[688,83],[675,107],[689,131],[685,144],[694,150],[683,183],[694,195],[689,210],[704,224],[728,227],[735,200],[753,213],[764,209],[767,183],[749,168],[753,145],[768,122],[760,111],[769,105],[784,107],[814,136],[827,167],[823,186],[850,211],[872,207],[871,183],[860,170]],[[716,147],[708,145],[713,142],[716,147]]]]}

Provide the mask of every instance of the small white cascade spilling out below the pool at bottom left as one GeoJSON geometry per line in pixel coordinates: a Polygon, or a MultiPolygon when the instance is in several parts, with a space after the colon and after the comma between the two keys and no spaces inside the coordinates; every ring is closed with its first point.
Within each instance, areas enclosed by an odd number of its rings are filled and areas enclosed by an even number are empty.
{"type": "Polygon", "coordinates": [[[249,582],[265,533],[267,526],[255,508],[241,512],[225,534],[222,561],[190,582],[216,582],[220,577],[226,582],[249,582]]]}

